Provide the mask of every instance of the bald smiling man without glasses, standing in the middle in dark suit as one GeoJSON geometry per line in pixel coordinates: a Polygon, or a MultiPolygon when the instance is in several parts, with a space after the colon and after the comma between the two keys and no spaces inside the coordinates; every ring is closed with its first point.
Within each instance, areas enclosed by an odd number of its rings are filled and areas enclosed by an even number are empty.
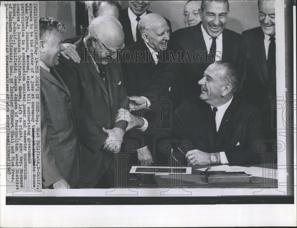
{"type": "MultiPolygon", "coordinates": [[[[149,129],[153,128],[156,130],[157,128],[155,128],[154,123],[160,117],[158,110],[162,110],[162,108],[159,105],[155,107],[157,105],[155,101],[160,96],[165,97],[169,93],[170,78],[153,78],[152,76],[157,68],[158,56],[162,53],[162,50],[167,48],[170,29],[166,20],[161,15],[155,13],[144,15],[139,21],[138,27],[142,39],[134,42],[125,49],[125,51],[132,53],[132,61],[130,61],[131,59],[127,61],[125,56],[123,56],[124,81],[130,99],[145,100],[145,106],[143,108],[146,108],[146,111],[142,112],[144,115],[141,117],[144,117],[148,121],[149,129]],[[151,102],[154,102],[152,107],[150,107],[151,102]]],[[[135,113],[138,112],[136,111],[135,113]]],[[[135,131],[133,132],[131,131],[129,135],[126,134],[125,137],[133,138],[137,141],[139,137],[132,137],[131,135],[135,134],[135,131]]],[[[146,140],[144,142],[144,146],[146,147],[141,148],[140,146],[137,149],[140,164],[149,165],[152,162],[150,151],[153,150],[152,141],[154,135],[150,132],[147,133],[147,131],[141,134],[146,140]]],[[[142,145],[142,143],[138,143],[138,145],[142,145]]],[[[133,154],[131,155],[130,158],[133,157],[133,154]]]]}

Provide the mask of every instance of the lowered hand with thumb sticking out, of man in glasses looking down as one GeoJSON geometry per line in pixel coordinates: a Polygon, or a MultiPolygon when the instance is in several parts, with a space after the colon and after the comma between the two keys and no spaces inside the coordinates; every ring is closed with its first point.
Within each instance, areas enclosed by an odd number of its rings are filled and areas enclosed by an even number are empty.
{"type": "Polygon", "coordinates": [[[106,149],[110,152],[119,153],[121,149],[121,144],[123,142],[124,131],[118,127],[115,127],[110,130],[107,130],[104,127],[102,127],[102,130],[103,132],[108,134],[103,149],[106,149]]]}

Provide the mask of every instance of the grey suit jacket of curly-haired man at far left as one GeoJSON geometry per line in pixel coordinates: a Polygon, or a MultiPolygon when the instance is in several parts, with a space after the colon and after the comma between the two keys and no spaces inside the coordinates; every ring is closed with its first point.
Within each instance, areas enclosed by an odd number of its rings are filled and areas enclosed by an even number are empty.
{"type": "Polygon", "coordinates": [[[56,77],[40,67],[40,115],[42,184],[44,187],[62,177],[73,188],[79,178],[79,144],[71,96],[56,70],[56,77]]]}

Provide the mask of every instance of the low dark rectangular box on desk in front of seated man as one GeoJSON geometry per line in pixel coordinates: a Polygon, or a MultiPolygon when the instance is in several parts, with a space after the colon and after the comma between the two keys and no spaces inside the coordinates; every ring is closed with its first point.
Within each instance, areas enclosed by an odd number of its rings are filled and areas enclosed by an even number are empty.
{"type": "Polygon", "coordinates": [[[207,183],[243,183],[249,182],[249,176],[245,172],[208,171],[207,183]]]}

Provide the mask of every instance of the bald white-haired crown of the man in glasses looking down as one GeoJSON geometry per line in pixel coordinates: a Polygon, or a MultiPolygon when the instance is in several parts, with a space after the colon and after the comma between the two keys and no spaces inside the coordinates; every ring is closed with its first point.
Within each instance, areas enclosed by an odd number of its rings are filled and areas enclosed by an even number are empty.
{"type": "Polygon", "coordinates": [[[91,21],[86,39],[93,37],[100,39],[107,47],[122,46],[124,43],[121,23],[110,15],[102,15],[91,21]]]}

